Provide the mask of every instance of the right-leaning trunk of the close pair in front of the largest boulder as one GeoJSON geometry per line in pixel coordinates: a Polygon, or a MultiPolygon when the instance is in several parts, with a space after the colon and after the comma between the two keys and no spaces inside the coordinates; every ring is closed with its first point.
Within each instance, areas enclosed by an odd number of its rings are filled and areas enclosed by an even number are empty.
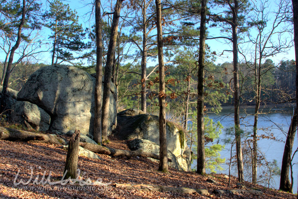
{"type": "Polygon", "coordinates": [[[117,41],[117,31],[120,17],[122,0],[117,0],[115,11],[113,14],[113,22],[111,27],[111,36],[108,46],[107,61],[105,64],[105,78],[103,84],[103,105],[102,105],[102,142],[108,142],[108,113],[110,105],[110,92],[111,92],[111,77],[112,67],[114,62],[115,47],[117,41]]]}

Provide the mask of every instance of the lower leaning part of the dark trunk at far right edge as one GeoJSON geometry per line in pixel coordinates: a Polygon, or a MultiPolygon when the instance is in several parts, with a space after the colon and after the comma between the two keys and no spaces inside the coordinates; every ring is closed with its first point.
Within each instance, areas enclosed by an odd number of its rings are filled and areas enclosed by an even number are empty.
{"type": "Polygon", "coordinates": [[[295,109],[294,116],[289,127],[287,140],[285,141],[285,149],[283,152],[283,161],[280,171],[280,190],[290,191],[291,182],[289,180],[289,169],[292,155],[292,148],[297,129],[297,109],[295,109]]]}

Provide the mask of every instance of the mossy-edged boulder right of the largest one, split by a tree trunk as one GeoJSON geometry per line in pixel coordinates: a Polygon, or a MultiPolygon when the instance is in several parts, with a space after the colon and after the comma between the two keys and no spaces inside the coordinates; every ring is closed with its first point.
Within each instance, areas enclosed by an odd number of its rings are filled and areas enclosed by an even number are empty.
{"type": "MultiPolygon", "coordinates": [[[[115,135],[124,140],[143,139],[159,145],[158,116],[142,114],[138,109],[128,109],[117,114],[115,135]],[[141,114],[140,114],[141,113],[141,114]]],[[[184,130],[173,122],[166,122],[168,150],[176,156],[181,170],[190,171],[190,150],[184,130]]]]}

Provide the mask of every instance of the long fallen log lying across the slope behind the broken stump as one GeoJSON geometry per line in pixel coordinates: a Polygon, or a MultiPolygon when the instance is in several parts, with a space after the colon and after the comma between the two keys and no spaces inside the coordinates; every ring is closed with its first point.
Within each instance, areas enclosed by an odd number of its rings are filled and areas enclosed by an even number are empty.
{"type": "MultiPolygon", "coordinates": [[[[63,138],[59,138],[56,135],[50,134],[41,134],[41,133],[33,133],[28,131],[22,131],[17,129],[9,129],[0,127],[0,140],[8,140],[8,141],[33,141],[33,142],[41,142],[47,144],[57,144],[57,145],[67,145],[68,140],[63,138]]],[[[146,157],[146,158],[154,158],[159,160],[159,155],[153,153],[143,152],[141,150],[136,151],[128,151],[122,149],[113,149],[109,147],[100,146],[98,144],[91,144],[86,142],[80,142],[80,146],[84,149],[92,151],[94,153],[100,153],[111,156],[122,156],[122,157],[146,157]]],[[[167,159],[171,162],[171,159],[167,159]]]]}

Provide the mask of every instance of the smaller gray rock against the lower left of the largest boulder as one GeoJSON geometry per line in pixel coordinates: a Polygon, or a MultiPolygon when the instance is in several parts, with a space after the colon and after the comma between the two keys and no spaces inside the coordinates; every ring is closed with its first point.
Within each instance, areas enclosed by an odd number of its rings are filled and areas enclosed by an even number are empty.
{"type": "Polygon", "coordinates": [[[46,131],[49,129],[51,118],[36,104],[27,101],[17,101],[13,104],[11,118],[13,122],[25,124],[29,129],[46,131]]]}

